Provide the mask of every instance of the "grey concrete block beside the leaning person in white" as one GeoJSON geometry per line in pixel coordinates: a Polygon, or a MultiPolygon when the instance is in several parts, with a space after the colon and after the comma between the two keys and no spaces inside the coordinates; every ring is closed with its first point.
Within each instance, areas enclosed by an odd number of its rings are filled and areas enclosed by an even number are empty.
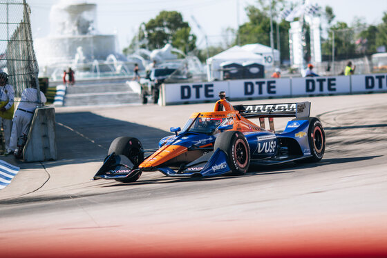
{"type": "Polygon", "coordinates": [[[52,159],[57,159],[55,109],[37,108],[23,149],[23,160],[36,162],[52,159]]]}

